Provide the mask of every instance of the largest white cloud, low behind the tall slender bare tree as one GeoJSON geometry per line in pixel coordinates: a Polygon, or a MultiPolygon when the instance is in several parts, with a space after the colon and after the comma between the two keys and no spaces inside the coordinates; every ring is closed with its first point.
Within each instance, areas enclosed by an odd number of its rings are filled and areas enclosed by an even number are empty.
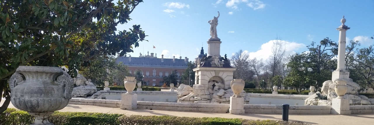
{"type": "MultiPolygon", "coordinates": [[[[249,52],[249,58],[251,59],[263,58],[264,61],[266,61],[272,55],[273,42],[275,42],[275,40],[270,40],[269,42],[261,45],[260,50],[256,52],[249,52]]],[[[285,51],[286,56],[295,54],[296,53],[295,51],[297,51],[298,49],[306,48],[303,43],[288,42],[285,40],[281,40],[280,42],[282,43],[282,46],[286,48],[286,51],[285,51]]]]}

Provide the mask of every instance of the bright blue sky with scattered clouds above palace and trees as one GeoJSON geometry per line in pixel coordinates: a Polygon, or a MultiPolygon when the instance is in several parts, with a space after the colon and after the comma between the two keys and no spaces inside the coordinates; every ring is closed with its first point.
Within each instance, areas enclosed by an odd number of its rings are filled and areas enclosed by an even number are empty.
{"type": "Polygon", "coordinates": [[[145,0],[131,13],[132,20],[118,29],[137,24],[148,35],[149,42],[141,42],[132,57],[149,51],[193,61],[201,47],[208,52],[208,21],[217,11],[222,56],[242,49],[250,58],[266,59],[276,37],[283,40],[287,54],[306,51],[312,41],[325,37],[338,41],[336,28],[343,15],[351,27],[348,40],[359,40],[361,47],[374,43],[373,0],[145,0]]]}

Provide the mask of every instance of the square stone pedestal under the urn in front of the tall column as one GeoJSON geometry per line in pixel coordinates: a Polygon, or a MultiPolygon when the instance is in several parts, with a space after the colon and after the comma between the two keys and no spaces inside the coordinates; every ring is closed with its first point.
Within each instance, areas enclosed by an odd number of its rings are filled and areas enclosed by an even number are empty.
{"type": "Polygon", "coordinates": [[[333,98],[331,114],[350,115],[349,99],[333,98]]]}

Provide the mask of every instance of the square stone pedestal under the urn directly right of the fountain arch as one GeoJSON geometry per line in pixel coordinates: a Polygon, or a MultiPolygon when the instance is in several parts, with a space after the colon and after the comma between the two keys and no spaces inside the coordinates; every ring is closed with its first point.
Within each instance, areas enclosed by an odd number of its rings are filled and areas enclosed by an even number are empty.
{"type": "Polygon", "coordinates": [[[244,114],[244,98],[230,97],[230,114],[244,114]]]}

